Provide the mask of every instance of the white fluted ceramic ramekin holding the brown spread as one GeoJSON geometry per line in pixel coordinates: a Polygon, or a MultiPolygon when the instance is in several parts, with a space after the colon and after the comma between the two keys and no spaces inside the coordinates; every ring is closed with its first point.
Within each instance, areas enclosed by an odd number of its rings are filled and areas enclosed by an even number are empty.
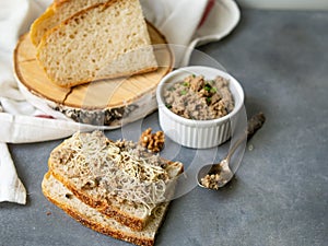
{"type": "Polygon", "coordinates": [[[173,141],[192,149],[207,149],[220,145],[231,137],[231,119],[244,105],[244,91],[241,84],[226,72],[210,67],[192,66],[177,69],[165,75],[156,90],[160,126],[173,141]],[[212,120],[194,120],[171,112],[164,103],[164,90],[190,74],[203,75],[206,80],[220,75],[230,81],[230,90],[234,97],[234,109],[226,116],[212,120]]]}

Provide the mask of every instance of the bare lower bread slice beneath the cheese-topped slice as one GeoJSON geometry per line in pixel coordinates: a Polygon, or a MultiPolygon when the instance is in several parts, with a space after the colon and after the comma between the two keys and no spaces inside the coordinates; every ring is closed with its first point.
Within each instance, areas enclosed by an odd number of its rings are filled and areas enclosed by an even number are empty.
{"type": "Polygon", "coordinates": [[[152,213],[150,223],[144,230],[142,232],[136,232],[83,203],[50,173],[45,175],[42,189],[44,195],[51,202],[83,225],[105,235],[136,245],[151,246],[154,244],[156,232],[163,222],[168,207],[168,202],[160,204],[152,213]]]}

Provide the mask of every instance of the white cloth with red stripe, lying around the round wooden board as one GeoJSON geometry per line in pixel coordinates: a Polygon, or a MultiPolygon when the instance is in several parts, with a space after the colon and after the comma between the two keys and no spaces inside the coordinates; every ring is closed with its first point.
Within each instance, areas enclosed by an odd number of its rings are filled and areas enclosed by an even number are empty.
{"type": "MultiPolygon", "coordinates": [[[[45,115],[22,95],[14,79],[12,52],[20,35],[51,3],[51,0],[0,0],[0,202],[25,203],[26,190],[19,179],[5,143],[61,139],[77,130],[95,127],[45,115]]],[[[177,67],[186,66],[197,45],[219,40],[238,23],[233,0],[140,0],[145,17],[183,52],[175,54],[177,67]]]]}

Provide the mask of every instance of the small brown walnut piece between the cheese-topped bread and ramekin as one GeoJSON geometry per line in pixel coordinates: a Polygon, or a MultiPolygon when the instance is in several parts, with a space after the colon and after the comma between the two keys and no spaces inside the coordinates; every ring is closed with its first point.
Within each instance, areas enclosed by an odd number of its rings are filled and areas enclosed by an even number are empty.
{"type": "Polygon", "coordinates": [[[152,129],[148,128],[141,133],[139,144],[151,152],[160,152],[164,148],[165,136],[163,131],[152,133],[152,129]]]}

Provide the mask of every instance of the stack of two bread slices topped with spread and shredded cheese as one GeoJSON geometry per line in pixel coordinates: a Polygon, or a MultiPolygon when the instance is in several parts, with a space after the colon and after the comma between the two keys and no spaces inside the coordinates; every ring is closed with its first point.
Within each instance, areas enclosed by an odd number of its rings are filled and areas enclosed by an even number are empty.
{"type": "Polygon", "coordinates": [[[91,229],[153,245],[183,164],[103,132],[77,132],[50,154],[44,195],[91,229]]]}

